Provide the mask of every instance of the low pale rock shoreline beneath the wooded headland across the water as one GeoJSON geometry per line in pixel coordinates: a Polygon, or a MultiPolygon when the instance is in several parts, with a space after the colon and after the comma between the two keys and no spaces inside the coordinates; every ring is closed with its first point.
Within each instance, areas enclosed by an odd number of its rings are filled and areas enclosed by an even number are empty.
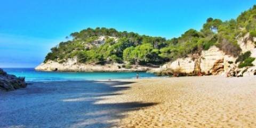
{"type": "Polygon", "coordinates": [[[148,71],[151,68],[145,66],[131,66],[131,68],[125,68],[124,64],[120,63],[109,63],[105,65],[93,65],[78,63],[76,58],[68,59],[66,62],[59,63],[55,61],[47,61],[46,63],[41,63],[41,65],[35,68],[41,71],[148,71]]]}

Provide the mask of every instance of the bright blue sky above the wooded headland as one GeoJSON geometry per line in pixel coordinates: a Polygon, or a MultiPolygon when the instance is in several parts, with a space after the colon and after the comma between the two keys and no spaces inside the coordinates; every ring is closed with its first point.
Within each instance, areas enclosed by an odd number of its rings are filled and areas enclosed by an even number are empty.
{"type": "Polygon", "coordinates": [[[256,0],[9,0],[0,1],[0,68],[36,67],[51,47],[88,27],[179,37],[207,18],[235,19],[256,0]]]}

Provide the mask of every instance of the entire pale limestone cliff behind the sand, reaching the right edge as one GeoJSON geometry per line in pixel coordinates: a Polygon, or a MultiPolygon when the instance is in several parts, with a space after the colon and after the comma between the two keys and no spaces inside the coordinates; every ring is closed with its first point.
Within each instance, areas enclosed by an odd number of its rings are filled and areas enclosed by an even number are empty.
{"type": "MultiPolygon", "coordinates": [[[[246,34],[238,39],[242,53],[251,52],[251,57],[256,58],[256,38],[246,34]]],[[[200,55],[190,54],[186,58],[179,58],[168,62],[159,69],[152,70],[159,75],[226,75],[227,73],[238,76],[256,75],[256,60],[253,66],[238,68],[239,62],[235,63],[237,57],[225,54],[216,46],[202,51],[200,55]]]]}

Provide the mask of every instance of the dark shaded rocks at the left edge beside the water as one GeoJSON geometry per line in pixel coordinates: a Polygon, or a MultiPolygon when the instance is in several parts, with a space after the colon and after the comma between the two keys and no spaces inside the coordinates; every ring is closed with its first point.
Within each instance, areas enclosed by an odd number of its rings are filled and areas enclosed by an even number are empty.
{"type": "Polygon", "coordinates": [[[3,69],[0,69],[0,90],[11,91],[26,86],[25,77],[9,75],[3,69]]]}

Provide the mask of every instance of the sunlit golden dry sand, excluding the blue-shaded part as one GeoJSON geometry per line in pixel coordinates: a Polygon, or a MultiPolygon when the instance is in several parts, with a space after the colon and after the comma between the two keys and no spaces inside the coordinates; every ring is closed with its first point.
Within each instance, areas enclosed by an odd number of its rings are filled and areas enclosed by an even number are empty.
{"type": "MultiPolygon", "coordinates": [[[[256,127],[256,77],[140,79],[108,102],[155,102],[119,127],[256,127]]],[[[103,102],[103,101],[101,101],[103,102]]]]}

